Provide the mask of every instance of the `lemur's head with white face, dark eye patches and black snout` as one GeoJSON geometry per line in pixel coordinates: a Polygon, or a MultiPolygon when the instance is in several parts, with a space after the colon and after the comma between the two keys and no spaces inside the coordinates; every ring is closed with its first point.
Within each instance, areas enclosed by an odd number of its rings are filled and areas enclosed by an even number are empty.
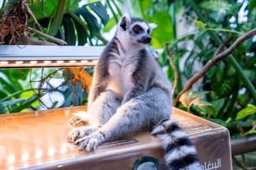
{"type": "MultiPolygon", "coordinates": [[[[147,45],[150,43],[150,32],[156,24],[148,23],[142,18],[134,18],[125,14],[122,16],[116,29],[116,36],[134,45],[147,45]]],[[[120,40],[121,40],[120,39],[120,40]]]]}

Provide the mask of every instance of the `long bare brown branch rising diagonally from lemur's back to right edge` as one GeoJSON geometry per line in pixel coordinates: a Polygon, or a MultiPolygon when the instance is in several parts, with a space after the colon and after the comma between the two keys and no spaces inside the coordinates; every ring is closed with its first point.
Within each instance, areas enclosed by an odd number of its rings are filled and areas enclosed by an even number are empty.
{"type": "MultiPolygon", "coordinates": [[[[191,78],[189,78],[188,82],[186,83],[186,85],[184,86],[182,91],[178,94],[175,102],[173,103],[173,106],[177,106],[179,104],[180,96],[182,96],[182,94],[184,94],[184,92],[187,92],[197,80],[202,78],[202,76],[204,76],[204,74],[209,69],[211,69],[211,67],[214,66],[216,64],[216,62],[218,62],[218,61],[224,59],[225,57],[227,57],[228,55],[232,54],[234,52],[234,50],[236,50],[236,48],[239,45],[241,45],[241,43],[243,43],[244,41],[246,41],[249,38],[252,38],[255,35],[256,35],[256,29],[253,29],[252,31],[249,31],[246,34],[244,34],[243,36],[240,36],[239,38],[237,38],[237,40],[227,50],[225,50],[224,52],[222,52],[222,53],[220,53],[220,54],[218,54],[214,57],[212,57],[212,59],[209,60],[205,64],[205,66],[202,68],[201,71],[197,72],[191,78]]],[[[223,43],[223,44],[221,44],[221,46],[225,46],[225,44],[223,43]]]]}

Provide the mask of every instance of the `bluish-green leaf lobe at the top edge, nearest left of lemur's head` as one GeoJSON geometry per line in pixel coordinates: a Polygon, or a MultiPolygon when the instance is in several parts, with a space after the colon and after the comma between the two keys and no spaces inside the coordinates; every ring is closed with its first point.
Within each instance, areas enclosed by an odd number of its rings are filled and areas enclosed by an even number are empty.
{"type": "Polygon", "coordinates": [[[102,5],[101,2],[88,4],[90,8],[100,17],[103,25],[106,25],[109,20],[109,15],[106,8],[102,5]]]}

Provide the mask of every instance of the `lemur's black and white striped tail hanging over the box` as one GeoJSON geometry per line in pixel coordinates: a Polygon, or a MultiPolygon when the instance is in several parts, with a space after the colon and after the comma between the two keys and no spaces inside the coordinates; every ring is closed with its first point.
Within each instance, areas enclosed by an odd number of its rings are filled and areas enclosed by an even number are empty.
{"type": "Polygon", "coordinates": [[[170,169],[202,169],[195,146],[176,121],[163,120],[151,134],[162,140],[164,160],[170,169]]]}

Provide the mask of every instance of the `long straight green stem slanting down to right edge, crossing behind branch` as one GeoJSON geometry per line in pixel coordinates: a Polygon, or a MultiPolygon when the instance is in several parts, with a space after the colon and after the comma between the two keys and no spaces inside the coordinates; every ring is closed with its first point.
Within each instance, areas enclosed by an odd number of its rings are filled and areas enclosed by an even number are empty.
{"type": "MultiPolygon", "coordinates": [[[[189,4],[191,5],[191,7],[193,8],[193,10],[195,11],[197,17],[202,20],[202,22],[207,23],[206,19],[204,18],[204,16],[200,13],[200,11],[198,10],[195,2],[193,0],[188,0],[189,4]]],[[[211,37],[216,41],[216,43],[218,43],[219,45],[222,43],[221,39],[218,37],[218,35],[216,34],[216,32],[212,32],[209,31],[209,34],[211,35],[211,37]]],[[[249,80],[249,78],[245,75],[243,69],[241,68],[241,66],[237,63],[236,59],[234,58],[234,56],[232,54],[230,54],[227,58],[230,63],[232,64],[232,66],[234,67],[234,69],[236,69],[237,74],[239,75],[239,77],[241,78],[241,80],[243,81],[244,85],[246,86],[246,88],[248,89],[248,91],[250,92],[250,94],[253,97],[254,102],[256,103],[256,90],[252,85],[252,82],[249,80]]]]}

